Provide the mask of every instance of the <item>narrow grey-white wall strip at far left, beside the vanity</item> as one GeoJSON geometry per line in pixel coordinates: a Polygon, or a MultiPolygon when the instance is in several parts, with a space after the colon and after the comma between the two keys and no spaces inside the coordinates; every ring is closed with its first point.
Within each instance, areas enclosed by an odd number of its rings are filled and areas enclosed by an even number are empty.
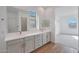
{"type": "Polygon", "coordinates": [[[0,6],[0,52],[6,51],[6,32],[6,7],[0,6]],[[1,18],[3,18],[4,20],[2,21],[1,18]]]}

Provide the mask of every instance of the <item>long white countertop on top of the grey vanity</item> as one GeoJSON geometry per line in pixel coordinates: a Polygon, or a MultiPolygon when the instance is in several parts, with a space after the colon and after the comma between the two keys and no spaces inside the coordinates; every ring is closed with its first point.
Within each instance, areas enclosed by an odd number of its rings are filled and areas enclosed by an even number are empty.
{"type": "Polygon", "coordinates": [[[5,37],[5,41],[16,40],[16,39],[38,35],[46,32],[50,32],[50,30],[45,29],[45,30],[36,30],[36,31],[25,31],[25,32],[22,32],[21,34],[19,32],[8,33],[5,37]]]}

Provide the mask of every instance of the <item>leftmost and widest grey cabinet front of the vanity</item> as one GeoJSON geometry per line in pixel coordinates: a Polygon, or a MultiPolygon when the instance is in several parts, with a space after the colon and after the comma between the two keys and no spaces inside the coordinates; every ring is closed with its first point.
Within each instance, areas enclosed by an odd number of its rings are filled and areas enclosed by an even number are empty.
{"type": "Polygon", "coordinates": [[[7,42],[7,52],[8,53],[23,53],[24,46],[23,46],[23,39],[17,39],[14,41],[7,42]]]}

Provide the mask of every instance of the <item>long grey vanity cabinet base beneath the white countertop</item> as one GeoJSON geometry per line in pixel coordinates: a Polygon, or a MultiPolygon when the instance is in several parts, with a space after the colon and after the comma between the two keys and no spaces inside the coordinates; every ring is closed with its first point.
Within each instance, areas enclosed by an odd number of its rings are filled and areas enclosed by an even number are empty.
{"type": "Polygon", "coordinates": [[[50,42],[50,31],[34,32],[18,39],[6,39],[8,53],[29,53],[50,42]],[[31,35],[30,35],[31,34],[31,35]]]}

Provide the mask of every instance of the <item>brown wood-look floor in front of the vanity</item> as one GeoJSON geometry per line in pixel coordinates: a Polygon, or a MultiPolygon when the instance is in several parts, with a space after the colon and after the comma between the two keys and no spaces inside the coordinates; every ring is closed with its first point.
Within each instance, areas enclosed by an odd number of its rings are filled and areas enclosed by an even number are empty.
{"type": "Polygon", "coordinates": [[[32,53],[60,53],[61,48],[54,43],[47,43],[46,45],[38,48],[32,53]]]}

